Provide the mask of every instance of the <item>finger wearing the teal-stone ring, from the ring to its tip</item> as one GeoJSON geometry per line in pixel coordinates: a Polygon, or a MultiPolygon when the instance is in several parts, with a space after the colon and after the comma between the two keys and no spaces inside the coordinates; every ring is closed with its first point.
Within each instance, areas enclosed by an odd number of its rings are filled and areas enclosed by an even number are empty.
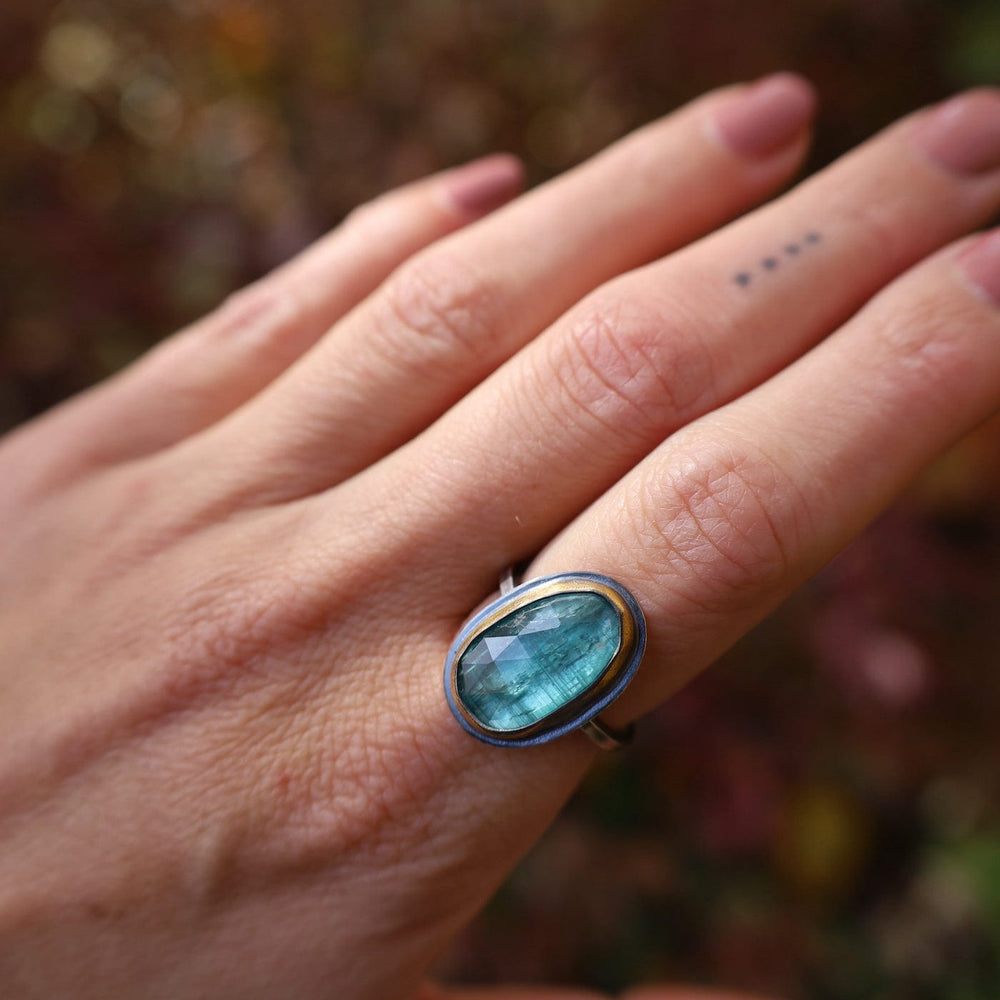
{"type": "Polygon", "coordinates": [[[538,560],[615,576],[646,610],[651,668],[620,716],[715,659],[1000,407],[1000,230],[961,249],[680,431],[538,560]]]}

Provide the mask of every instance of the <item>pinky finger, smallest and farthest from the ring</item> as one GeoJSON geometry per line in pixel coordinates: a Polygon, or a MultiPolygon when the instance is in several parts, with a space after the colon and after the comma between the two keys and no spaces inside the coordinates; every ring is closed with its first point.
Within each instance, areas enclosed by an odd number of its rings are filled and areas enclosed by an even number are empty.
{"type": "Polygon", "coordinates": [[[37,473],[38,436],[58,437],[62,471],[72,474],[201,430],[259,392],[402,261],[507,201],[522,180],[514,157],[493,156],[363,206],[117,378],[30,425],[25,459],[37,473]]]}

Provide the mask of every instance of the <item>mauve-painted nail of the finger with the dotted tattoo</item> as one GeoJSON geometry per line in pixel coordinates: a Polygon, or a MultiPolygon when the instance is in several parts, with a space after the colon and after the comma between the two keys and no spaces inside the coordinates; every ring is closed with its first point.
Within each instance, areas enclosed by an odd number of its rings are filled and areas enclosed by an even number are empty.
{"type": "Polygon", "coordinates": [[[1000,168],[1000,92],[974,90],[945,101],[918,119],[913,138],[952,173],[1000,168]]]}

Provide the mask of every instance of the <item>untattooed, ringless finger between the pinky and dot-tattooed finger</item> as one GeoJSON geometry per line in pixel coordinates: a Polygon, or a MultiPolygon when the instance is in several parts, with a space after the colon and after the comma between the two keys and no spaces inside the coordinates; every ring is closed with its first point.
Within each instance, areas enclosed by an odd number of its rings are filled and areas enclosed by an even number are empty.
{"type": "Polygon", "coordinates": [[[812,106],[808,86],[787,75],[710,95],[436,244],[219,428],[216,451],[232,457],[235,442],[257,442],[247,476],[259,482],[266,470],[262,488],[281,497],[354,473],[595,285],[687,243],[787,179],[812,106]]]}

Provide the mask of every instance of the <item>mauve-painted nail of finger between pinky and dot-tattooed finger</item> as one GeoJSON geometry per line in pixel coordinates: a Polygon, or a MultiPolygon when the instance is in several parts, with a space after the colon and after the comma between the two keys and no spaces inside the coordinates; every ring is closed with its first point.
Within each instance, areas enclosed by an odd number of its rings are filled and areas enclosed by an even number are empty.
{"type": "Polygon", "coordinates": [[[766,76],[715,112],[715,124],[737,153],[763,159],[797,138],[816,112],[816,92],[794,73],[766,76]]]}

